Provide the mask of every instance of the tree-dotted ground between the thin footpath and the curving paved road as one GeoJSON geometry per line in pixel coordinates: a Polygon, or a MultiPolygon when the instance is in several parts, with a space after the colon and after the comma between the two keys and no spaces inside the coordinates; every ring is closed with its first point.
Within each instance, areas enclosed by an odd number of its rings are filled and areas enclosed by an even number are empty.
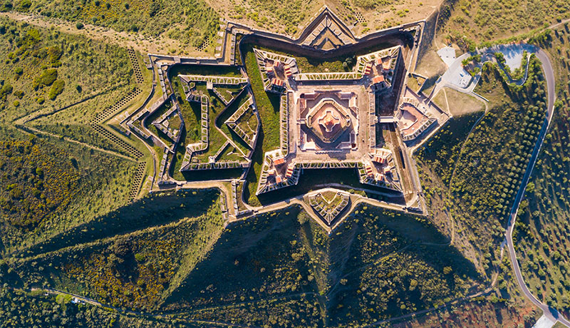
{"type": "MultiPolygon", "coordinates": [[[[454,198],[461,200],[462,210],[473,215],[467,222],[476,236],[488,230],[480,225],[483,218],[494,217],[494,224],[504,225],[527,168],[546,113],[545,82],[540,70],[540,62],[533,58],[527,83],[522,88],[508,86],[514,103],[492,108],[485,115],[466,141],[465,155],[457,161],[450,189],[454,198]]],[[[483,78],[502,72],[489,66],[484,71],[483,78]]],[[[496,75],[494,78],[502,80],[496,75]]]]}

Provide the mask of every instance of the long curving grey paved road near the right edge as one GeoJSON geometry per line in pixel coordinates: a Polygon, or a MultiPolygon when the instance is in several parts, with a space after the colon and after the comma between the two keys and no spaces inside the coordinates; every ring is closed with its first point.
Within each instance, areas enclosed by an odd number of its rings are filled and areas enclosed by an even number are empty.
{"type": "Polygon", "coordinates": [[[527,183],[529,183],[529,178],[534,168],[534,164],[537,162],[537,157],[539,155],[539,150],[544,143],[544,137],[548,131],[550,122],[552,120],[552,116],[554,114],[554,100],[556,97],[555,91],[555,81],[554,81],[554,71],[552,69],[552,65],[550,63],[550,59],[548,55],[539,50],[536,53],[537,58],[542,62],[542,68],[544,70],[544,77],[546,78],[546,88],[548,91],[548,108],[546,109],[546,120],[544,120],[544,124],[542,125],[539,139],[537,140],[537,145],[534,146],[534,150],[532,151],[532,157],[530,159],[529,165],[527,167],[527,172],[524,173],[522,178],[522,183],[517,193],[517,197],[514,198],[514,204],[512,205],[510,214],[509,214],[509,223],[507,224],[507,232],[505,233],[505,238],[507,240],[507,248],[509,250],[509,257],[511,257],[511,262],[514,270],[514,275],[517,278],[517,283],[519,287],[522,289],[522,292],[525,297],[527,297],[534,305],[542,309],[544,315],[549,319],[554,321],[558,320],[561,324],[564,324],[566,327],[570,327],[570,322],[562,317],[561,314],[556,309],[552,309],[548,305],[542,303],[534,297],[534,295],[529,291],[527,285],[524,283],[521,270],[519,267],[519,262],[517,260],[517,253],[514,251],[514,245],[512,242],[512,232],[514,230],[514,224],[517,220],[517,212],[519,210],[519,205],[522,200],[522,196],[524,195],[524,190],[527,188],[527,183]]]}

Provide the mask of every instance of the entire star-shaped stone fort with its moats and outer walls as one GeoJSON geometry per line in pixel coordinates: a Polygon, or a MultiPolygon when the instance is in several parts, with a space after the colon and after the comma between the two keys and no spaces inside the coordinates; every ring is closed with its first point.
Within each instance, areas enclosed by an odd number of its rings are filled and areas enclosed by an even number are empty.
{"type": "Polygon", "coordinates": [[[450,115],[406,86],[422,22],[357,37],[323,7],[296,40],[221,27],[214,58],[150,53],[152,93],[121,116],[151,191],[219,188],[228,222],[298,203],[328,231],[362,202],[425,212],[413,151],[450,115]]]}

